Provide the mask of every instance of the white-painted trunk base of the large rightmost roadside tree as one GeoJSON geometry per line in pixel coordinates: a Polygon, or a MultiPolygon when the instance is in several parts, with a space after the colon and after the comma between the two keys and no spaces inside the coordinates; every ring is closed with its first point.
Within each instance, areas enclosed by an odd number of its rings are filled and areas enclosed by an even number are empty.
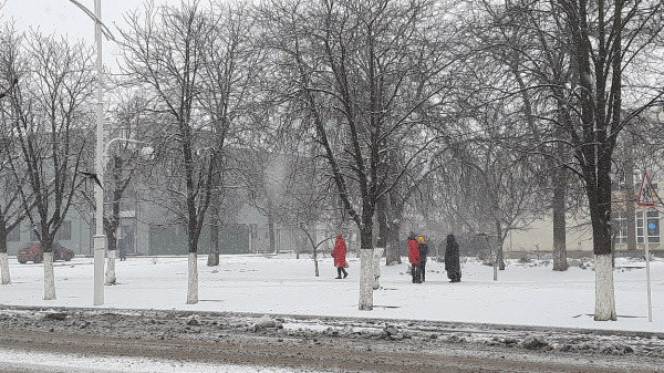
{"type": "Polygon", "coordinates": [[[615,291],[611,253],[595,256],[595,321],[615,321],[615,291]]]}

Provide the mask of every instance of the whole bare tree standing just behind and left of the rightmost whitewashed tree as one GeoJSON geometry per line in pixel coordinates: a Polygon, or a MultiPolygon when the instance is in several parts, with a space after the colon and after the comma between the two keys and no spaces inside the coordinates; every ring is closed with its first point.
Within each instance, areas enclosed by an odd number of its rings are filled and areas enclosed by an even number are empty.
{"type": "MultiPolygon", "coordinates": [[[[528,132],[529,141],[509,141],[507,144],[515,152],[528,154],[531,162],[547,163],[553,159],[550,176],[551,184],[541,199],[550,200],[549,207],[553,216],[553,270],[568,269],[567,260],[567,221],[566,208],[570,177],[568,177],[566,153],[569,153],[569,138],[561,126],[553,125],[547,117],[556,112],[556,122],[569,117],[569,110],[556,106],[549,99],[548,90],[533,89],[547,86],[556,90],[570,79],[569,60],[571,50],[561,38],[550,38],[552,20],[530,9],[528,2],[516,1],[505,4],[484,3],[484,17],[480,23],[486,27],[475,28],[474,33],[481,40],[478,48],[478,60],[486,63],[488,58],[499,68],[495,74],[504,76],[494,89],[499,95],[511,96],[516,105],[521,107],[522,128],[528,132]]],[[[546,12],[543,14],[547,14],[546,12]]],[[[484,68],[479,68],[484,69],[484,68]]]]}

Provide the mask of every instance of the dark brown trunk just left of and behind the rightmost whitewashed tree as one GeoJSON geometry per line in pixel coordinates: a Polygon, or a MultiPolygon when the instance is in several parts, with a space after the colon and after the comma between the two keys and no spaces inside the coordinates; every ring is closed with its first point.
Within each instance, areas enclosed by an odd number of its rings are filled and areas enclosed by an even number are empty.
{"type": "Polygon", "coordinates": [[[553,270],[567,271],[567,221],[564,217],[567,172],[564,166],[556,168],[553,183],[553,270]]]}

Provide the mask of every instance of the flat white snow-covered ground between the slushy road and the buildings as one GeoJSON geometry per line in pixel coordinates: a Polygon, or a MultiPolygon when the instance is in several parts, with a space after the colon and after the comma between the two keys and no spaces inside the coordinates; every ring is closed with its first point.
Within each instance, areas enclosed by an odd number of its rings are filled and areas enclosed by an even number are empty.
{"type": "MultiPolygon", "coordinates": [[[[320,259],[314,276],[309,256],[222,256],[207,267],[199,256],[199,303],[186,304],[187,257],[139,257],[116,262],[116,286],[105,287],[103,308],[178,309],[313,315],[371,317],[664,332],[664,261],[651,262],[653,322],[647,321],[645,263],[616,259],[615,322],[595,322],[594,271],[510,261],[494,281],[492,268],[467,259],[459,283],[449,283],[443,263],[427,263],[426,282],[411,282],[407,265],[381,265],[374,310],[359,311],[360,261],[336,280],[332,258],[320,259]]],[[[9,286],[0,304],[92,307],[93,259],[55,263],[58,299],[44,301],[43,265],[19,265],[10,257],[9,286]]]]}

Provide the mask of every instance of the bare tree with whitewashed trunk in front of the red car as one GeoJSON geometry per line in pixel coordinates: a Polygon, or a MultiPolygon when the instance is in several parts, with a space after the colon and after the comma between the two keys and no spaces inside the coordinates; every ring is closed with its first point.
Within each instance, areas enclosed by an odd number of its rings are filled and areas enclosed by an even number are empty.
{"type": "MultiPolygon", "coordinates": [[[[23,206],[44,251],[44,299],[55,299],[53,244],[77,185],[93,92],[92,51],[32,32],[12,61],[19,84],[10,97],[13,136],[28,180],[23,206]],[[28,203],[34,198],[32,203],[28,203]]],[[[24,190],[24,191],[23,191],[24,190]]]]}

